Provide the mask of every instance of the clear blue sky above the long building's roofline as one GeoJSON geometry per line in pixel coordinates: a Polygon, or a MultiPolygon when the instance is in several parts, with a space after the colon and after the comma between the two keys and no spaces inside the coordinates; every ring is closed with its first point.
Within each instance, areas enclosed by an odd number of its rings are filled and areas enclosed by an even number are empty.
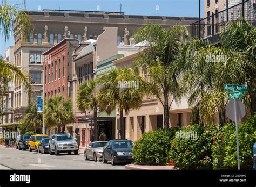
{"type": "MultiPolygon", "coordinates": [[[[9,4],[23,7],[24,0],[6,0],[9,4]]],[[[2,1],[0,2],[2,3],[2,1]]],[[[26,0],[26,9],[42,11],[43,9],[120,11],[127,15],[183,16],[198,17],[198,0],[26,0]]],[[[201,16],[204,15],[204,0],[201,0],[201,16]]],[[[11,37],[5,42],[0,35],[0,55],[5,49],[14,45],[11,37]]]]}

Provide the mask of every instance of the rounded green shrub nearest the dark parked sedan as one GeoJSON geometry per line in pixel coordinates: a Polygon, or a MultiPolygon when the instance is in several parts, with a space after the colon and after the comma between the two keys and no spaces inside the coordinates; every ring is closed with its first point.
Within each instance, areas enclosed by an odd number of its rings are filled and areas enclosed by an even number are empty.
{"type": "Polygon", "coordinates": [[[134,143],[133,156],[136,164],[163,165],[169,160],[167,154],[171,148],[171,139],[178,128],[157,130],[144,133],[134,143]]]}

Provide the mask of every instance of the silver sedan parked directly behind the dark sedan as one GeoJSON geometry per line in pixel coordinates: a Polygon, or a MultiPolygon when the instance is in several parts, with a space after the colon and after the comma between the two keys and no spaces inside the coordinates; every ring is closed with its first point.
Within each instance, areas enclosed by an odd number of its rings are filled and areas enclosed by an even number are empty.
{"type": "Polygon", "coordinates": [[[84,159],[93,159],[95,162],[98,159],[102,159],[103,147],[106,145],[107,141],[93,141],[88,147],[84,149],[84,159]]]}

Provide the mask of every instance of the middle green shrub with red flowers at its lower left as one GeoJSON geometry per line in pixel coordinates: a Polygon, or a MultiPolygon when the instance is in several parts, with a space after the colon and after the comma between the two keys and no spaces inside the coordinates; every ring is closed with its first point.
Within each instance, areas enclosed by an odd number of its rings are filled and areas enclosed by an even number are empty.
{"type": "Polygon", "coordinates": [[[197,138],[174,138],[171,141],[168,165],[179,169],[210,169],[212,165],[212,131],[215,131],[212,129],[211,132],[206,131],[205,127],[200,125],[183,127],[183,132],[196,132],[197,138]]]}

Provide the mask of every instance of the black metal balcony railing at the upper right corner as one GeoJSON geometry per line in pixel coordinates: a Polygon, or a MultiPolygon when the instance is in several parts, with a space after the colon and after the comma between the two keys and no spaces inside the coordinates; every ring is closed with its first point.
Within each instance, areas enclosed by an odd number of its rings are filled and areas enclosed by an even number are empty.
{"type": "Polygon", "coordinates": [[[191,24],[192,38],[205,39],[213,37],[223,30],[227,21],[238,21],[242,18],[248,21],[255,20],[254,6],[255,4],[251,1],[245,0],[218,13],[212,12],[211,16],[191,24]]]}

